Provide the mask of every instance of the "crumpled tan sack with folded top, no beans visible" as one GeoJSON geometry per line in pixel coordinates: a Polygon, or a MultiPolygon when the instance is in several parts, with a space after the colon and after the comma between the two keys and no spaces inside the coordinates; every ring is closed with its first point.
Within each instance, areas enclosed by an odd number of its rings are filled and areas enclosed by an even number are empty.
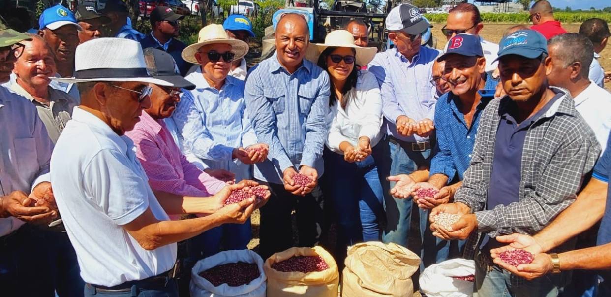
{"type": "Polygon", "coordinates": [[[342,274],[343,297],[411,297],[411,276],[420,257],[398,244],[377,241],[354,244],[348,249],[342,274]]]}

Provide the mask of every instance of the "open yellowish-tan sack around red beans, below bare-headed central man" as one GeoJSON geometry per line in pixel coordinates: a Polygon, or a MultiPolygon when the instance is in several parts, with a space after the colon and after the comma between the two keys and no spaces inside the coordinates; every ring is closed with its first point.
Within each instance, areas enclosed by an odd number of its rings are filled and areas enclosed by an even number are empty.
{"type": "Polygon", "coordinates": [[[263,271],[268,277],[267,297],[337,297],[339,285],[337,263],[335,263],[331,254],[320,246],[290,248],[283,252],[277,252],[265,261],[263,271]],[[271,268],[273,263],[287,260],[295,255],[319,255],[327,262],[329,269],[312,273],[284,273],[271,268]]]}

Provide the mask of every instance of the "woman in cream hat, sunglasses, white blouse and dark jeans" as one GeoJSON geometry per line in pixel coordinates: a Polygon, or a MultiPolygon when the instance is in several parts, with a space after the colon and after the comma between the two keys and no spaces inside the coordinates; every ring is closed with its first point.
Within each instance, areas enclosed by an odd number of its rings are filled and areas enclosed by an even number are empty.
{"type": "Polygon", "coordinates": [[[329,33],[316,50],[318,65],[331,82],[323,178],[338,223],[335,257],[343,264],[348,245],[379,240],[378,219],[383,217],[384,191],[376,166],[384,155],[377,145],[383,136],[382,100],[375,76],[359,71],[377,50],[355,46],[346,30],[329,33]]]}

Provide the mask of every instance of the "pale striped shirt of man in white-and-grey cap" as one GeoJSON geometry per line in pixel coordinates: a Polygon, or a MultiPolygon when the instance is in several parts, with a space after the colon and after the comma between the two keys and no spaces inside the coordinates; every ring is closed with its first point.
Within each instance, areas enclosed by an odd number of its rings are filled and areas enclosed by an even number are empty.
{"type": "Polygon", "coordinates": [[[415,134],[401,136],[395,123],[402,115],[416,121],[434,119],[437,89],[431,84],[431,78],[437,56],[438,50],[420,46],[420,52],[409,62],[397,48],[391,48],[376,54],[370,62],[369,71],[376,76],[381,89],[385,117],[382,130],[386,130],[388,135],[408,142],[428,141],[428,138],[415,134]]]}

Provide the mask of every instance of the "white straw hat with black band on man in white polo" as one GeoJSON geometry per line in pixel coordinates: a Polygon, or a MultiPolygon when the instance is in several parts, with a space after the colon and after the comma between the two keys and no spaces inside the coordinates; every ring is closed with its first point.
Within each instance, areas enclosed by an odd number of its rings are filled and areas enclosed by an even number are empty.
{"type": "Polygon", "coordinates": [[[60,82],[137,81],[172,87],[170,82],[152,78],[139,42],[122,38],[100,38],[76,46],[72,78],[51,78],[60,82]]]}

